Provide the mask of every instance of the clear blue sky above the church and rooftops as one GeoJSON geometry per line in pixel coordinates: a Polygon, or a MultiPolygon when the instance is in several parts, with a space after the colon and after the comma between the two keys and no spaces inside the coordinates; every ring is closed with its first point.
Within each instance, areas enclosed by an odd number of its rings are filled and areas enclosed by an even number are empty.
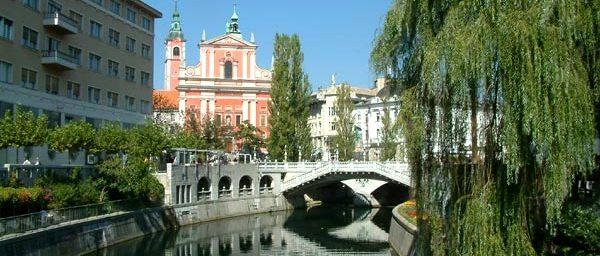
{"type": "MultiPolygon", "coordinates": [[[[159,89],[164,83],[164,38],[174,0],[145,2],[163,13],[163,18],[156,20],[154,42],[154,87],[159,89]]],[[[337,82],[373,85],[375,75],[369,69],[369,53],[392,0],[179,0],[187,65],[198,63],[197,44],[203,29],[207,39],[225,32],[234,2],[244,38],[249,40],[254,32],[259,66],[271,66],[275,33],[296,33],[304,53],[304,72],[313,90],[328,86],[333,73],[337,82]]]]}

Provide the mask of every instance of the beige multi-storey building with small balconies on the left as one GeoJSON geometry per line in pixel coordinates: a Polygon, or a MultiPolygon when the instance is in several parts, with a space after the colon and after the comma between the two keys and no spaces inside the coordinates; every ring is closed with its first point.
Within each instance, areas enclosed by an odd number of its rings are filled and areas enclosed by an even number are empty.
{"type": "Polygon", "coordinates": [[[0,114],[20,105],[59,125],[143,123],[161,15],[140,0],[3,0],[0,114]]]}

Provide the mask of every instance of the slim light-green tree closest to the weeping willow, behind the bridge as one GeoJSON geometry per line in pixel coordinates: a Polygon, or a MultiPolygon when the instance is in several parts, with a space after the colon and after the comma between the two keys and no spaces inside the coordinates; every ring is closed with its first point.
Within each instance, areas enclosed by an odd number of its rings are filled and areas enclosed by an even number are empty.
{"type": "Polygon", "coordinates": [[[383,100],[383,124],[381,134],[381,160],[394,160],[398,145],[398,122],[392,120],[390,106],[387,99],[383,100]]]}

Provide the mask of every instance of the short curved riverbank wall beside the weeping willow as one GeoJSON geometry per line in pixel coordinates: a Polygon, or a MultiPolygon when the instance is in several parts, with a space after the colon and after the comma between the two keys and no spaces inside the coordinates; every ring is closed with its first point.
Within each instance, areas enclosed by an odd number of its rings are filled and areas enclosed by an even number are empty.
{"type": "Polygon", "coordinates": [[[400,205],[392,210],[390,223],[389,242],[392,255],[413,256],[415,255],[415,244],[417,238],[417,227],[408,222],[398,211],[400,205]]]}

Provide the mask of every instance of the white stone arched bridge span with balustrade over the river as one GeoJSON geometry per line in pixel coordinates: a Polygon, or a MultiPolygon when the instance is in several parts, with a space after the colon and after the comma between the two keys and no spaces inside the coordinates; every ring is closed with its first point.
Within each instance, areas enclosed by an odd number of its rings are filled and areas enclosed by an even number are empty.
{"type": "Polygon", "coordinates": [[[375,179],[410,186],[410,170],[403,162],[280,162],[260,163],[260,173],[286,173],[281,192],[348,179],[375,179]]]}

